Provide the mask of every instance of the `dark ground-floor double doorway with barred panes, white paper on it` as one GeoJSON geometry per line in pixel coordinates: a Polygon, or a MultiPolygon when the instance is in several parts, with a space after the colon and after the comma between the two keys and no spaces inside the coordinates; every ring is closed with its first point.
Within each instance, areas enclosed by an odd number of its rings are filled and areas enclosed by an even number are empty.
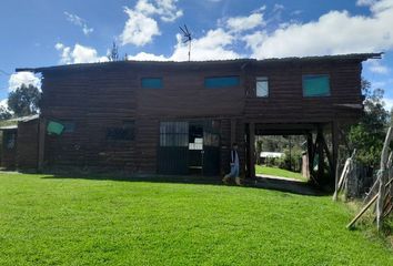
{"type": "Polygon", "coordinates": [[[220,122],[161,122],[160,174],[220,174],[220,122]]]}

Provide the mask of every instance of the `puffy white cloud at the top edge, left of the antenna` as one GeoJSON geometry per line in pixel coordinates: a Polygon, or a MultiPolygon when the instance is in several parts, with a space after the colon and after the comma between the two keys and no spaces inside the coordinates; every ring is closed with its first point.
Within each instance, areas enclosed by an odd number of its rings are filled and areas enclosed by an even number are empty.
{"type": "Polygon", "coordinates": [[[123,32],[120,34],[122,45],[134,44],[143,47],[152,42],[155,35],[160,35],[157,20],[158,16],[164,22],[173,22],[183,16],[183,11],[178,9],[178,0],[139,0],[133,9],[124,8],[128,14],[123,32]]]}

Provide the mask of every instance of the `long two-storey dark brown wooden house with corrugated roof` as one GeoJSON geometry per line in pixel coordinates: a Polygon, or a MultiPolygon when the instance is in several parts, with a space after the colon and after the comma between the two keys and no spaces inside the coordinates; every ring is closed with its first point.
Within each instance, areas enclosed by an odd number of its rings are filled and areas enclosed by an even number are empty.
{"type": "Polygon", "coordinates": [[[253,176],[255,134],[308,135],[311,162],[329,161],[333,170],[340,124],[362,112],[362,62],[380,57],[119,61],[17,71],[43,75],[40,167],[222,175],[236,142],[241,172],[253,176]],[[62,130],[48,134],[49,123],[62,130]]]}

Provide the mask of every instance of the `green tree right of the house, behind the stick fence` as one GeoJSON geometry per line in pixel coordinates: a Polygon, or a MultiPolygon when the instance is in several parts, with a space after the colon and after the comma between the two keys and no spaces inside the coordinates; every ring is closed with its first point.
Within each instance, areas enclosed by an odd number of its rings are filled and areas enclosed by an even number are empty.
{"type": "Polygon", "coordinates": [[[362,81],[365,96],[360,123],[351,126],[347,140],[350,147],[356,149],[357,160],[365,165],[376,166],[389,125],[389,112],[384,109],[382,89],[371,90],[369,81],[362,81]]]}

